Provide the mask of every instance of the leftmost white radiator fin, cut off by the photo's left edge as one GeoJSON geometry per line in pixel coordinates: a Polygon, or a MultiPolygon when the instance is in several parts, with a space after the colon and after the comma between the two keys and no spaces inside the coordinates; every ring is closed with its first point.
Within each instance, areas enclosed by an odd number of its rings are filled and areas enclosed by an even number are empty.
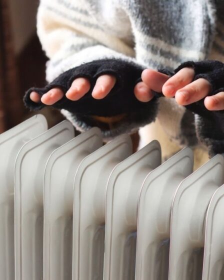
{"type": "Polygon", "coordinates": [[[47,129],[38,114],[0,134],[0,272],[14,279],[14,161],[22,145],[47,129]]]}

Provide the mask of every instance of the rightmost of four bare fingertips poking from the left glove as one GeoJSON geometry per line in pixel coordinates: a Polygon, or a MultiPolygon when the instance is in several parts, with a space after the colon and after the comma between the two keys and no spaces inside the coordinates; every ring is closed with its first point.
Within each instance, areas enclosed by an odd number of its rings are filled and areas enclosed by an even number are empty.
{"type": "Polygon", "coordinates": [[[95,99],[104,98],[113,88],[116,78],[112,75],[101,75],[97,78],[92,90],[92,97],[95,99]]]}

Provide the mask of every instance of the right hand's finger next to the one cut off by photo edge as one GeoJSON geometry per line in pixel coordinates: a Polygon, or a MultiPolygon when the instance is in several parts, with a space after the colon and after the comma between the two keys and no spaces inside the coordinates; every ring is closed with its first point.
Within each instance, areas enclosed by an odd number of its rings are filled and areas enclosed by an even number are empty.
{"type": "Polygon", "coordinates": [[[176,91],[175,99],[180,105],[188,105],[205,97],[210,89],[210,83],[199,78],[176,91]]]}

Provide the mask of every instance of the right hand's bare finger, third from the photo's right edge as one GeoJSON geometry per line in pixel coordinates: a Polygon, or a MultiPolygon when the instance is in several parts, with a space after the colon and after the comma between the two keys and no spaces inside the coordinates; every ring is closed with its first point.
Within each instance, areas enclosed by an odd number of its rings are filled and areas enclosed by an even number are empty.
{"type": "Polygon", "coordinates": [[[173,97],[175,95],[175,92],[190,83],[193,80],[193,77],[193,68],[182,68],[163,84],[162,93],[166,97],[173,97]]]}

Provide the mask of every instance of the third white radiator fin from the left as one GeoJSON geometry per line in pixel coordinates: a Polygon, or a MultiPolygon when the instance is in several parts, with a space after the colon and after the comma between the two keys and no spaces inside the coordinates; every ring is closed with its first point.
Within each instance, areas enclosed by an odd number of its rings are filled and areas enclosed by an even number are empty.
{"type": "Polygon", "coordinates": [[[54,150],[44,173],[44,278],[71,279],[73,181],[88,154],[102,145],[98,128],[92,128],[54,150]]]}

